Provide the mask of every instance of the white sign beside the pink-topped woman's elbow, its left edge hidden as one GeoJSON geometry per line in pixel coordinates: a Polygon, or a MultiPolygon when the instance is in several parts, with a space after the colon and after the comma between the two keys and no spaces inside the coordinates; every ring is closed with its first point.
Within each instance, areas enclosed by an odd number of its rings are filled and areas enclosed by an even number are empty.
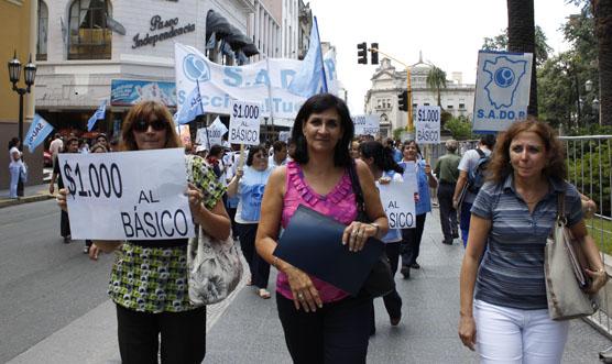
{"type": "Polygon", "coordinates": [[[416,227],[413,184],[392,181],[380,185],[381,202],[389,219],[390,229],[416,227]]]}

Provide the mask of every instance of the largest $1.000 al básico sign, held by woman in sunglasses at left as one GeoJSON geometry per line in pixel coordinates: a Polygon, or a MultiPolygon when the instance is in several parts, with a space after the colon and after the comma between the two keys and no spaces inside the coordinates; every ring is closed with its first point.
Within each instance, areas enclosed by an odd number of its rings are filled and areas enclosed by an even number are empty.
{"type": "Polygon", "coordinates": [[[183,148],[58,157],[73,239],[195,236],[183,148]]]}

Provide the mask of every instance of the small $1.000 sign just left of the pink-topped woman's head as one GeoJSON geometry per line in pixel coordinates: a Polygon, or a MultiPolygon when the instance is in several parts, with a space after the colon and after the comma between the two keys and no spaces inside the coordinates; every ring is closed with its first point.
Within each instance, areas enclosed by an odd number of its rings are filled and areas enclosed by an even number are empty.
{"type": "Polygon", "coordinates": [[[253,102],[233,101],[230,117],[229,142],[232,144],[260,144],[261,107],[253,102]]]}

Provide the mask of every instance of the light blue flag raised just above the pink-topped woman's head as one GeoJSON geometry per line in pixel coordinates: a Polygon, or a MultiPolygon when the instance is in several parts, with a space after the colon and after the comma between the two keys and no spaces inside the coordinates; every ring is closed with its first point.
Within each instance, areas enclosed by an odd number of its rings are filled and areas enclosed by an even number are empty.
{"type": "Polygon", "coordinates": [[[327,92],[327,81],[325,79],[325,69],[323,67],[321,43],[319,38],[319,30],[317,18],[313,22],[310,30],[310,45],[303,60],[303,67],[294,76],[288,86],[292,93],[309,98],[319,92],[327,92]]]}

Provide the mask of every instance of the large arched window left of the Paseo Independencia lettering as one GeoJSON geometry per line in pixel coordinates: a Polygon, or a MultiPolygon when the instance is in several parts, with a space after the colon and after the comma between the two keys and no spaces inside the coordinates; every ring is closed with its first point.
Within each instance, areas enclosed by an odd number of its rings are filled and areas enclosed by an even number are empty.
{"type": "Polygon", "coordinates": [[[108,0],[74,0],[70,5],[68,59],[110,59],[112,32],[108,0]]]}

